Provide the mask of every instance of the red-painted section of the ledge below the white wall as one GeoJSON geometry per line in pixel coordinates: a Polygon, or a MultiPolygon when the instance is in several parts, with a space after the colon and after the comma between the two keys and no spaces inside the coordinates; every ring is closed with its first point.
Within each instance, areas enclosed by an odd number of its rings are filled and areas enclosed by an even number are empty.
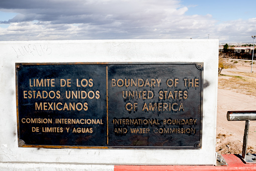
{"type": "Polygon", "coordinates": [[[222,155],[228,166],[214,165],[115,165],[115,171],[213,171],[213,170],[256,170],[256,164],[244,164],[242,160],[234,154],[222,155]]]}

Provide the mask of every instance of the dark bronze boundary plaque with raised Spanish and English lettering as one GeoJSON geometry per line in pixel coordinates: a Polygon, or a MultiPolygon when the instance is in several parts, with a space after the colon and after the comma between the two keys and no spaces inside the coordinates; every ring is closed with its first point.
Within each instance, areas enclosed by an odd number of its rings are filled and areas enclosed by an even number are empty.
{"type": "Polygon", "coordinates": [[[16,63],[20,147],[200,148],[203,63],[16,63]]]}

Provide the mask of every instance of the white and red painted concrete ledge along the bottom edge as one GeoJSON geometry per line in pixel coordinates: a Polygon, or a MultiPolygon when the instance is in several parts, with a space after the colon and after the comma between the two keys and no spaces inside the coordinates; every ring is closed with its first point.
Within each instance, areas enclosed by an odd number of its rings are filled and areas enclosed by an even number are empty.
{"type": "Polygon", "coordinates": [[[256,170],[256,164],[245,164],[234,154],[222,155],[228,166],[214,165],[94,165],[94,164],[57,164],[57,163],[18,163],[18,162],[0,162],[0,170],[40,170],[40,171],[61,171],[61,170],[107,170],[107,171],[146,171],[146,170],[166,170],[166,171],[184,171],[184,170],[256,170]]]}

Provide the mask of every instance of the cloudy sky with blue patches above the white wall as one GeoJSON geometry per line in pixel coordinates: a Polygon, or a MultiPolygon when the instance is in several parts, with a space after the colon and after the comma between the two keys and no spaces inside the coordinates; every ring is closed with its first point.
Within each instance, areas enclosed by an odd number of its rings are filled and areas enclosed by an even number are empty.
{"type": "Polygon", "coordinates": [[[0,0],[0,40],[253,42],[256,1],[0,0]]]}

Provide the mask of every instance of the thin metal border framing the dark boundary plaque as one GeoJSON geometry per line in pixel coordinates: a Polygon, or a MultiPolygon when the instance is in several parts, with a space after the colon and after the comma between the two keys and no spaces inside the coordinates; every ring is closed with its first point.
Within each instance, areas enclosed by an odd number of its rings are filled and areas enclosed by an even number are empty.
{"type": "MultiPolygon", "coordinates": [[[[203,133],[203,88],[204,88],[204,62],[16,62],[15,63],[15,82],[16,82],[16,112],[17,112],[17,135],[19,147],[35,148],[73,148],[73,149],[201,149],[203,133]],[[18,71],[22,65],[112,65],[112,64],[195,64],[196,68],[201,70],[201,114],[200,114],[200,141],[195,146],[70,146],[70,145],[27,145],[20,139],[19,123],[19,104],[18,104],[18,71]]],[[[107,95],[108,97],[108,95],[107,95]]],[[[108,137],[108,136],[107,136],[108,137]]]]}

